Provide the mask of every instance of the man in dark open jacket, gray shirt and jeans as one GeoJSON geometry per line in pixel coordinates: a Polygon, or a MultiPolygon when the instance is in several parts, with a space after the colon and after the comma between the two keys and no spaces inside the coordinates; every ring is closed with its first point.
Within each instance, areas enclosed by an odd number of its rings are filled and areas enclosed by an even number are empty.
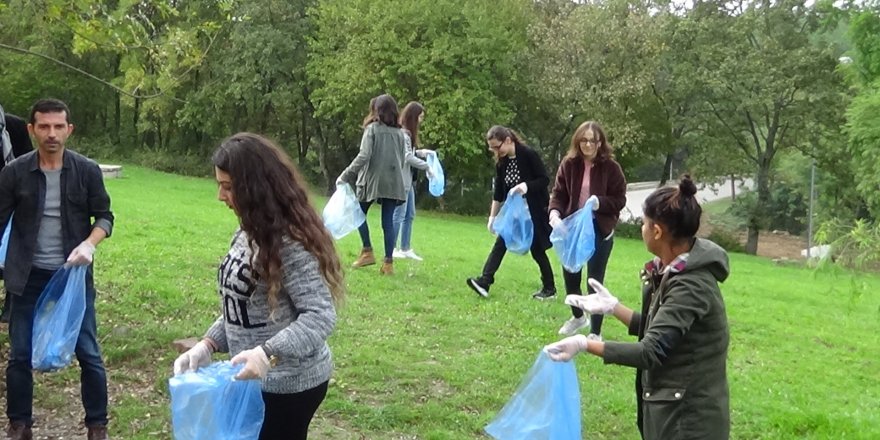
{"type": "Polygon", "coordinates": [[[9,291],[10,355],[6,367],[6,434],[31,440],[33,385],[31,352],[36,302],[64,265],[87,266],[86,309],[76,341],[82,369],[82,401],[89,440],[107,439],[107,374],[101,359],[95,319],[92,257],[113,231],[110,196],[95,161],[65,148],[73,132],[67,105],[37,101],[28,131],[37,150],[0,172],[0,224],[12,213],[12,231],[4,276],[9,291]],[[92,221],[94,219],[94,222],[92,221]]]}

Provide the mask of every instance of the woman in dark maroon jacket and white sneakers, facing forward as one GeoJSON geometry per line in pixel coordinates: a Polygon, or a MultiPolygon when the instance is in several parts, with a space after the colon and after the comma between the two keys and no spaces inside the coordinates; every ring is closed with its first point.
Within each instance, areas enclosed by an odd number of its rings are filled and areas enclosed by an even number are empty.
{"type": "MultiPolygon", "coordinates": [[[[550,226],[556,227],[562,219],[583,208],[591,197],[598,201],[593,204],[596,251],[587,262],[587,276],[603,283],[614,247],[614,227],[620,218],[620,210],[626,206],[626,178],[620,164],[613,159],[605,131],[598,123],[587,121],[575,130],[568,154],[556,172],[550,197],[550,226]]],[[[580,271],[570,273],[563,268],[562,278],[566,295],[583,295],[580,271]]],[[[596,293],[589,285],[587,291],[596,293]]],[[[592,315],[588,321],[583,310],[577,307],[571,308],[571,314],[559,334],[573,335],[591,326],[588,338],[602,340],[602,315],[592,315]]]]}

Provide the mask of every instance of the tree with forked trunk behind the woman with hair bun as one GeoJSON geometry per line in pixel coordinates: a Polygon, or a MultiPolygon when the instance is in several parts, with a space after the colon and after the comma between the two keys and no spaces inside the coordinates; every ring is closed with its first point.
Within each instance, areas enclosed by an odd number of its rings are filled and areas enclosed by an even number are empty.
{"type": "MultiPolygon", "coordinates": [[[[845,101],[837,58],[830,46],[811,41],[820,21],[801,0],[702,2],[693,14],[686,32],[702,48],[694,61],[708,91],[706,127],[724,140],[705,147],[733,149],[753,167],[757,202],[748,214],[746,252],[754,254],[777,153],[827,136],[839,120],[845,101]]],[[[718,165],[725,171],[715,174],[725,174],[729,165],[718,165]]]]}

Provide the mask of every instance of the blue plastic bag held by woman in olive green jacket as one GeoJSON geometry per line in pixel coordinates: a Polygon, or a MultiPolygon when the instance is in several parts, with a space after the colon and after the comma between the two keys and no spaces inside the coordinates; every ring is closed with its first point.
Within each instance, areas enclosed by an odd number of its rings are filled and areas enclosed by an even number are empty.
{"type": "Polygon", "coordinates": [[[486,433],[498,440],[580,440],[581,392],[574,362],[541,351],[486,433]]]}

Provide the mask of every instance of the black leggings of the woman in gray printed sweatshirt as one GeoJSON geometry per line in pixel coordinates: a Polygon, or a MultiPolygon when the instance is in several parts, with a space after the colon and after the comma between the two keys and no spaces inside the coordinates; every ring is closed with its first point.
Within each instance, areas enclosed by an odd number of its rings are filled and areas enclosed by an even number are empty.
{"type": "Polygon", "coordinates": [[[306,440],[309,437],[309,423],[324,401],[329,383],[327,381],[294,394],[263,393],[266,416],[263,418],[260,440],[306,440]]]}

